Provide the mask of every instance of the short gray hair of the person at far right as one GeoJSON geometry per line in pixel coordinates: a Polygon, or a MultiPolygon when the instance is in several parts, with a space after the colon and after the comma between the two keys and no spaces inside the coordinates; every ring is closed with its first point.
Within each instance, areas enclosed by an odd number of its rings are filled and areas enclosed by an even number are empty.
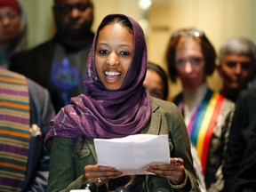
{"type": "Polygon", "coordinates": [[[251,58],[252,64],[256,65],[256,45],[245,37],[232,37],[220,46],[220,65],[228,53],[246,55],[251,58]]]}

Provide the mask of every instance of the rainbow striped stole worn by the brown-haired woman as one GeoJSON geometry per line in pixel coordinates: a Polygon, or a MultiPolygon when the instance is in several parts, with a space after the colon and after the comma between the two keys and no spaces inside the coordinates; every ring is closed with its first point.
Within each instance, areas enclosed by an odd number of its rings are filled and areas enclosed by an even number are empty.
{"type": "MultiPolygon", "coordinates": [[[[212,132],[220,114],[224,97],[219,92],[208,90],[204,100],[196,108],[188,124],[188,134],[192,143],[196,146],[198,156],[202,163],[203,173],[205,173],[212,132]]],[[[182,111],[182,95],[177,96],[173,102],[182,111]]]]}

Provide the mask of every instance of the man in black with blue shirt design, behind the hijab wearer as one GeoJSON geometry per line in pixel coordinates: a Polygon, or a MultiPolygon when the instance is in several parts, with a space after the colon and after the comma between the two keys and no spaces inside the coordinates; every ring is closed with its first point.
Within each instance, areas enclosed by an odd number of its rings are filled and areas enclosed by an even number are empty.
{"type": "Polygon", "coordinates": [[[54,0],[55,36],[44,44],[13,55],[10,69],[48,89],[56,111],[84,92],[88,52],[92,45],[91,0],[54,0]]]}

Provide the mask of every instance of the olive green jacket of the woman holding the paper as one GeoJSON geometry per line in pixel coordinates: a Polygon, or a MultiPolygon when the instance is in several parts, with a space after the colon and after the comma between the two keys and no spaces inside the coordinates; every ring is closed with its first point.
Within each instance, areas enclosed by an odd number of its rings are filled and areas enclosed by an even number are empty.
{"type": "MultiPolygon", "coordinates": [[[[190,153],[190,140],[183,117],[174,104],[152,98],[151,119],[141,133],[168,134],[171,156],[181,157],[188,172],[188,184],[176,191],[200,191],[190,153]]],[[[50,176],[48,192],[79,189],[82,185],[84,166],[97,164],[93,139],[60,138],[52,139],[50,176]]],[[[143,183],[145,191],[155,192],[157,188],[175,191],[167,179],[156,175],[146,175],[143,183]]]]}

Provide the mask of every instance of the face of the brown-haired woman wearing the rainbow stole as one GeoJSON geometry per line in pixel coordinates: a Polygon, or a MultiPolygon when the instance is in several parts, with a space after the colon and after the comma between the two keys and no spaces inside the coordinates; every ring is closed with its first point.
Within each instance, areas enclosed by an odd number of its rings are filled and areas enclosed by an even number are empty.
{"type": "Polygon", "coordinates": [[[183,88],[196,89],[206,82],[204,55],[200,44],[192,38],[176,48],[175,66],[183,88]]]}

